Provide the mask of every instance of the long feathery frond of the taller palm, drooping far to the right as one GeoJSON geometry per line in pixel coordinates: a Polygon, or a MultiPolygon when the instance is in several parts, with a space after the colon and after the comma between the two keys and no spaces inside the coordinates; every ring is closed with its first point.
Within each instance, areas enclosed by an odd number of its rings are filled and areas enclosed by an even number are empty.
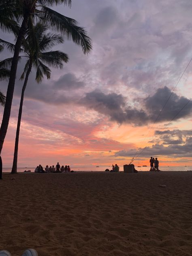
{"type": "Polygon", "coordinates": [[[46,21],[53,30],[60,31],[68,40],[80,45],[83,53],[89,53],[92,49],[92,41],[84,28],[77,26],[77,21],[66,17],[56,11],[43,6],[39,12],[39,18],[46,21]]]}

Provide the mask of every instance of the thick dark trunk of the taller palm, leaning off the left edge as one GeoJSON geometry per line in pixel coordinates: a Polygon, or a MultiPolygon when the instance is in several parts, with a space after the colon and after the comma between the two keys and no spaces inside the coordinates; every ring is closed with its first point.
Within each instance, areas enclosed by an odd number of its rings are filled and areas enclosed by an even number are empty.
{"type": "Polygon", "coordinates": [[[13,92],[14,92],[14,87],[15,87],[16,73],[17,73],[19,51],[21,48],[23,36],[26,32],[28,20],[29,20],[29,12],[25,12],[24,17],[23,17],[23,22],[21,25],[21,29],[19,30],[17,41],[15,43],[15,51],[14,51],[13,60],[11,63],[11,72],[10,72],[9,84],[7,87],[6,102],[5,102],[3,119],[2,119],[1,128],[0,128],[0,154],[2,151],[7,128],[9,125],[9,118],[10,118],[10,113],[11,113],[11,105],[12,105],[12,100],[13,100],[13,92]]]}

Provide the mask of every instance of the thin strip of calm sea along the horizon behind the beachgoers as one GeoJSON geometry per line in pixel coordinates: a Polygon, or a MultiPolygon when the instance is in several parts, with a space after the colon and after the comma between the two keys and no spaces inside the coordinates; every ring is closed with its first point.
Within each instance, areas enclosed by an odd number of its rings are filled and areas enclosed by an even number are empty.
{"type": "MultiPolygon", "coordinates": [[[[45,166],[43,166],[45,169],[45,166]]],[[[119,166],[120,171],[123,171],[123,166],[119,166]]],[[[31,170],[34,172],[35,167],[18,167],[17,171],[18,172],[23,172],[25,170],[31,170]]],[[[71,170],[74,171],[105,171],[105,169],[111,170],[111,166],[71,166],[71,170]]],[[[138,171],[149,171],[150,167],[137,167],[135,166],[135,169],[138,171]]],[[[189,171],[192,170],[192,166],[160,166],[161,171],[189,171]]],[[[11,168],[3,168],[3,172],[11,172],[11,168]]]]}

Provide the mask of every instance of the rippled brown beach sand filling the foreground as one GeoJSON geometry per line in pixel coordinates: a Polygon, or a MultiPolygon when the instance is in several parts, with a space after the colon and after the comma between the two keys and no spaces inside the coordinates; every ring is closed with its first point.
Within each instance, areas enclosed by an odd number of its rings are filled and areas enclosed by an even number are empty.
{"type": "Polygon", "coordinates": [[[4,174],[0,250],[191,256],[191,202],[192,172],[4,174]]]}

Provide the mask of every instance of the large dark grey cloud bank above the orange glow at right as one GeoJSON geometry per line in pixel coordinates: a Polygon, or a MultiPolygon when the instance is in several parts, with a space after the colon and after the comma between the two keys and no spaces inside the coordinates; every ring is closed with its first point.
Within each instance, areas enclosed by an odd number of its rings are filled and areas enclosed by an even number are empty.
{"type": "MultiPolygon", "coordinates": [[[[142,126],[143,124],[145,125],[148,122],[154,122],[156,120],[170,94],[171,90],[168,87],[159,88],[153,96],[141,100],[139,102],[140,104],[138,104],[138,109],[136,109],[134,107],[128,107],[127,98],[122,96],[122,94],[104,94],[100,90],[94,90],[93,92],[87,93],[79,101],[79,104],[94,109],[103,115],[107,115],[111,120],[120,124],[131,123],[136,126],[142,126]]],[[[173,93],[157,122],[170,121],[181,111],[187,102],[187,98],[179,97],[173,93]]],[[[192,102],[189,102],[179,115],[175,117],[175,120],[190,115],[191,110],[192,102]]],[[[175,141],[175,143],[179,143],[179,141],[175,141]]]]}

